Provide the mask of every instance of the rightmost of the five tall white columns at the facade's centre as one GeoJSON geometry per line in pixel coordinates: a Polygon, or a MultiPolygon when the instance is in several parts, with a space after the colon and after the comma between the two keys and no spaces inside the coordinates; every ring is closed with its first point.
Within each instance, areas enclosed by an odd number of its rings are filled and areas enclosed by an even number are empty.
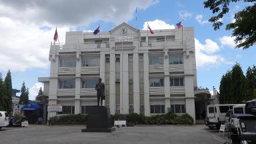
{"type": "Polygon", "coordinates": [[[150,115],[149,105],[149,53],[144,53],[144,111],[145,115],[150,115]]]}

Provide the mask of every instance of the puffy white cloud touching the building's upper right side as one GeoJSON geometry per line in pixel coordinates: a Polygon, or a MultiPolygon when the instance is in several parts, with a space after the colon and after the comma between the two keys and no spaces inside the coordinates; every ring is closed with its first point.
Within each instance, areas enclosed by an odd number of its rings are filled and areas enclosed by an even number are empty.
{"type": "Polygon", "coordinates": [[[233,64],[233,62],[227,61],[221,55],[215,54],[217,51],[219,51],[219,46],[211,39],[206,39],[205,44],[195,39],[197,67],[216,67],[221,64],[233,64]]]}

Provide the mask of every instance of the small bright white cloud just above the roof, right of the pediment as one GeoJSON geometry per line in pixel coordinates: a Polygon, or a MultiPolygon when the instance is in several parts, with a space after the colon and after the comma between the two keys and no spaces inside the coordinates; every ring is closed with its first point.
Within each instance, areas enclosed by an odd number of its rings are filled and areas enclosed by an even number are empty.
{"type": "Polygon", "coordinates": [[[147,30],[147,23],[149,23],[151,29],[175,29],[174,25],[170,25],[168,23],[165,23],[165,21],[155,19],[155,21],[145,21],[143,25],[143,30],[147,30]]]}

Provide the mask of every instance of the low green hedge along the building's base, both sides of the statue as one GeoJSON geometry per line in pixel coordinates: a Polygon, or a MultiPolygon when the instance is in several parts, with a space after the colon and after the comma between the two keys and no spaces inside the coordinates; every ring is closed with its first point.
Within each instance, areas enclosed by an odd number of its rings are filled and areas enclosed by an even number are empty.
{"type": "MultiPolygon", "coordinates": [[[[120,117],[125,117],[127,123],[133,125],[191,125],[193,124],[193,118],[185,113],[183,115],[177,115],[175,113],[166,113],[161,115],[145,116],[137,113],[131,113],[127,115],[111,115],[111,123],[119,120],[120,117]]],[[[49,119],[49,125],[86,125],[87,115],[62,115],[55,116],[49,119]]]]}

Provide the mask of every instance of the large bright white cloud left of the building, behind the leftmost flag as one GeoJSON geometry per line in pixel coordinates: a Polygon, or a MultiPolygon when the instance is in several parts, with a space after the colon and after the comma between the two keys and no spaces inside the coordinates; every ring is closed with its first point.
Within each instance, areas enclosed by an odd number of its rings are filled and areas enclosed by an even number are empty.
{"type": "MultiPolygon", "coordinates": [[[[59,27],[59,39],[65,40],[67,27],[59,27]]],[[[50,43],[55,29],[45,31],[37,25],[0,17],[0,71],[25,71],[27,68],[47,68],[50,43]]]]}

